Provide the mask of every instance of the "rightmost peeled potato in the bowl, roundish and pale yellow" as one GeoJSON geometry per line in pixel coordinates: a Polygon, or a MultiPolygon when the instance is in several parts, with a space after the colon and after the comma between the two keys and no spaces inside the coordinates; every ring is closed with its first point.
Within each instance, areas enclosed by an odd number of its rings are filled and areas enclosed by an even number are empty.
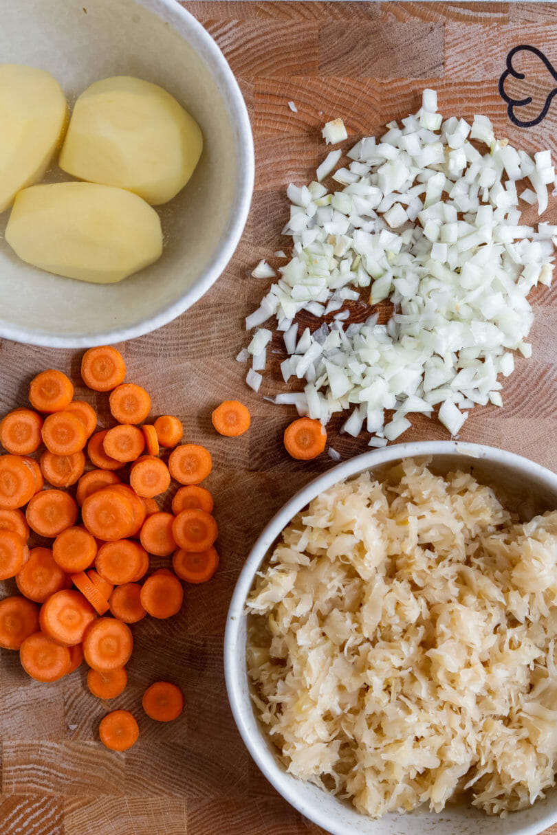
{"type": "Polygon", "coordinates": [[[190,180],[202,149],[199,125],[170,93],[119,75],[91,84],[79,96],[60,168],[160,205],[190,180]]]}

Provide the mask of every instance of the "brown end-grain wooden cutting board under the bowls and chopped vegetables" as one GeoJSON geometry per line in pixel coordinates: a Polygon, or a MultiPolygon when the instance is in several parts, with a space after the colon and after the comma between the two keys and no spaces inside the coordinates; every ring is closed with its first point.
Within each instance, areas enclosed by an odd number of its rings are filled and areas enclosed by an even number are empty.
{"type": "MultiPolygon", "coordinates": [[[[288,215],[286,184],[311,179],[326,153],[320,129],[327,119],[341,117],[355,141],[414,112],[421,90],[433,87],[443,114],[486,114],[496,134],[518,147],[556,150],[557,102],[539,124],[521,128],[498,93],[515,46],[537,47],[557,65],[557,7],[550,3],[183,5],[219,43],[241,84],[255,136],[256,191],[241,244],[212,290],[170,325],[120,348],[129,380],[151,393],[153,413],[180,415],[187,440],[213,454],[207,486],[220,526],[220,569],[209,584],[186,589],[179,616],[146,619],[134,628],[129,687],[114,704],[89,694],[84,671],[43,686],[25,676],[17,654],[0,652],[2,835],[322,832],[251,762],[230,715],[222,672],[226,610],[251,544],[292,493],[332,466],[327,456],[305,464],[284,453],[281,433],[294,416],[261,397],[276,392],[276,368],[260,395],[245,387],[246,367],[234,357],[246,344],[244,317],[266,286],[250,272],[262,257],[276,263],[273,251],[288,245],[280,234],[288,215]],[[242,438],[219,438],[210,427],[211,408],[230,397],[251,409],[252,427],[242,438]],[[184,715],[169,725],[155,725],[140,707],[144,688],[160,678],[185,693],[184,715]],[[99,720],[114,706],[139,718],[140,741],[126,754],[98,741],[99,720]]],[[[534,58],[523,86],[513,89],[517,99],[524,89],[533,97],[523,112],[515,109],[520,121],[537,118],[556,83],[534,58]]],[[[557,222],[555,200],[546,219],[557,222]]],[[[532,297],[534,357],[517,359],[504,385],[504,410],[474,409],[461,437],[557,470],[557,292],[540,288],[532,297]]],[[[79,352],[0,342],[0,413],[25,402],[29,380],[45,367],[58,367],[77,383],[79,359],[79,352]]],[[[90,398],[80,387],[76,396],[90,398]]],[[[93,402],[106,421],[106,398],[93,402]]],[[[366,438],[337,436],[337,428],[331,443],[343,458],[367,449],[366,438]]],[[[448,434],[424,418],[400,440],[432,438],[448,434]]]]}

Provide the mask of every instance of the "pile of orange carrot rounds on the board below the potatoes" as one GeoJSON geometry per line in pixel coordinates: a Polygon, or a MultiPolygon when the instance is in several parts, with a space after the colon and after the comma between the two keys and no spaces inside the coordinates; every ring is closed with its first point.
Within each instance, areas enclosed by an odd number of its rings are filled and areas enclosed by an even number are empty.
{"type": "MultiPolygon", "coordinates": [[[[146,615],[176,615],[181,581],[204,583],[218,567],[213,498],[200,486],[212,462],[204,447],[180,443],[177,417],[146,423],[149,393],[124,382],[124,358],[114,347],[87,351],[81,375],[90,389],[109,392],[111,428],[97,429],[94,407],[74,400],[72,382],[53,369],[31,382],[31,407],[0,422],[7,450],[0,455],[0,579],[15,578],[21,595],[0,600],[0,646],[18,650],[37,681],[58,681],[85,661],[91,693],[113,699],[127,682],[130,625],[146,615]],[[170,454],[164,460],[161,453],[170,454]],[[156,497],[172,479],[180,488],[166,513],[156,497]],[[30,549],[33,534],[51,540],[48,547],[30,549]],[[150,555],[171,558],[169,567],[149,571],[150,555]]],[[[245,432],[244,410],[223,404],[213,418],[217,431],[245,432]]],[[[144,711],[154,720],[172,721],[183,706],[180,688],[169,681],[144,693],[144,711]]],[[[112,711],[99,726],[114,751],[127,750],[138,735],[129,711],[112,711]]]]}

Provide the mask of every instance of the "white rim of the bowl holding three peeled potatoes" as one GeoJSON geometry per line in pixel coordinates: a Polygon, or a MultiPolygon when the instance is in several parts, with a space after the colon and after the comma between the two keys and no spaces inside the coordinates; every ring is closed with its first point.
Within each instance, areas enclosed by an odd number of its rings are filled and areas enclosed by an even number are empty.
{"type": "Polygon", "coordinates": [[[225,234],[221,237],[211,261],[195,281],[195,284],[185,291],[177,301],[172,301],[156,316],[150,316],[148,319],[134,325],[109,328],[87,337],[63,337],[40,331],[28,331],[21,326],[4,322],[0,323],[0,338],[41,347],[83,348],[125,342],[128,339],[142,337],[145,333],[150,333],[163,325],[167,325],[176,316],[180,316],[181,313],[188,310],[195,304],[195,301],[199,301],[200,297],[215,284],[215,281],[225,270],[241,239],[250,211],[256,164],[250,117],[234,73],[232,73],[225,56],[213,38],[210,37],[210,34],[194,15],[182,8],[176,0],[134,0],[134,3],[163,18],[166,23],[174,25],[179,34],[191,33],[197,42],[195,43],[195,49],[201,53],[202,58],[210,62],[211,72],[215,73],[217,81],[222,84],[223,92],[230,104],[230,111],[234,113],[237,120],[236,129],[241,139],[238,149],[238,169],[243,172],[243,176],[240,188],[237,190],[234,203],[231,206],[230,217],[232,220],[225,234]]]}

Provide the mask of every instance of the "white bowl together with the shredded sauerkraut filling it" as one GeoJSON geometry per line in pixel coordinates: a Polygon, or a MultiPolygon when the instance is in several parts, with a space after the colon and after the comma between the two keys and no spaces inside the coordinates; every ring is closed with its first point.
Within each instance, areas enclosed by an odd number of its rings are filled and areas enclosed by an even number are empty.
{"type": "Polygon", "coordinates": [[[557,475],[398,444],[316,478],[257,540],[225,676],[261,771],[333,835],[557,822],[557,475]]]}

